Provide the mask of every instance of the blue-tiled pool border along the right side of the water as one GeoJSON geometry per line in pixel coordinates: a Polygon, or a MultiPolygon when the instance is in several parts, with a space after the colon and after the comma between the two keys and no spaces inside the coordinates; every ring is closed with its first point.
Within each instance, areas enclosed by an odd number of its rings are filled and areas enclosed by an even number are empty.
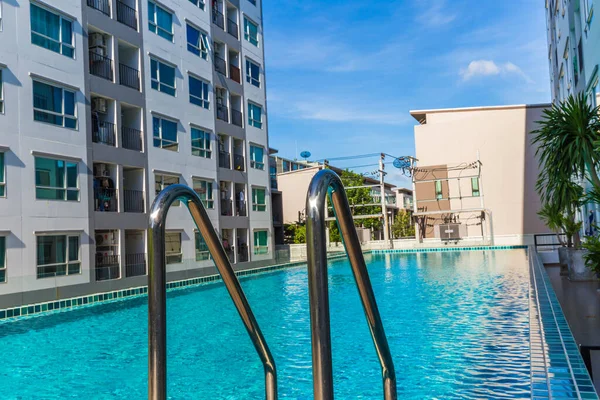
{"type": "Polygon", "coordinates": [[[550,277],[533,247],[528,254],[531,397],[598,399],[550,277]]]}

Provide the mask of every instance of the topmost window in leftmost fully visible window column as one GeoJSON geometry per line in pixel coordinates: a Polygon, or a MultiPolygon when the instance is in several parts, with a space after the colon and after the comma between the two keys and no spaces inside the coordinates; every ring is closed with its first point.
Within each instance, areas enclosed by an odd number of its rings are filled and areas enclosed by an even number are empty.
{"type": "Polygon", "coordinates": [[[73,58],[73,22],[33,3],[30,13],[31,43],[73,58]]]}

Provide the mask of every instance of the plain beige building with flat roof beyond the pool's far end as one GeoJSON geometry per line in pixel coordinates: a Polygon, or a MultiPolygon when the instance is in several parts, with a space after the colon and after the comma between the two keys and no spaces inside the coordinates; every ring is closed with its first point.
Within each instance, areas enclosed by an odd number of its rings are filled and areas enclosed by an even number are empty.
{"type": "Polygon", "coordinates": [[[537,216],[538,164],[530,132],[548,106],[411,111],[419,122],[413,174],[417,236],[512,245],[547,233],[537,216]]]}

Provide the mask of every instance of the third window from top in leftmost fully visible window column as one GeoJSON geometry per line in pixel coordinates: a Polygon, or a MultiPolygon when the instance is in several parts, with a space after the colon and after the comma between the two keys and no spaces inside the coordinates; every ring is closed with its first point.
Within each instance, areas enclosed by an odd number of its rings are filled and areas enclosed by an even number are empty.
{"type": "Polygon", "coordinates": [[[77,163],[35,157],[35,197],[39,200],[79,201],[77,163]]]}

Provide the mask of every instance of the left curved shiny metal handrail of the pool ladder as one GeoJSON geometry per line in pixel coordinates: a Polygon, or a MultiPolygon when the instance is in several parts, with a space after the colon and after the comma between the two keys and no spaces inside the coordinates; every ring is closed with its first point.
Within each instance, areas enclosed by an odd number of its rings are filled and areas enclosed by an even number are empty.
{"type": "Polygon", "coordinates": [[[171,185],[158,194],[150,210],[148,273],[148,399],[167,398],[166,245],[167,212],[174,201],[184,202],[208,246],[223,283],[242,318],[265,371],[265,398],[277,399],[275,361],[254,318],[223,245],[196,192],[184,185],[171,185]]]}

